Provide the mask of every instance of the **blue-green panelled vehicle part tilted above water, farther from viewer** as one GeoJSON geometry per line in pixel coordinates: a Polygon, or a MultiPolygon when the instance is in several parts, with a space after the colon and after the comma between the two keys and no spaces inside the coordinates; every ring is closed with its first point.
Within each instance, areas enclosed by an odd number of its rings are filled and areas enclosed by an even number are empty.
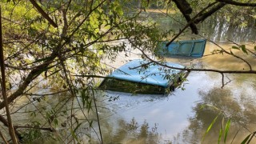
{"type": "Polygon", "coordinates": [[[172,42],[169,46],[166,43],[167,41],[159,43],[158,54],[201,58],[206,48],[206,39],[172,42]]]}

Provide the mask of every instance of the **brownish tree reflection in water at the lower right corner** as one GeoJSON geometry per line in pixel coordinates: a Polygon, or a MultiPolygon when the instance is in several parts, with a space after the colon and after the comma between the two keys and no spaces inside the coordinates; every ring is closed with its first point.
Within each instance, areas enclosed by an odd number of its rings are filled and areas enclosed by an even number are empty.
{"type": "MultiPolygon", "coordinates": [[[[181,134],[178,134],[174,141],[200,143],[211,122],[220,113],[202,143],[218,143],[222,122],[224,123],[223,129],[225,129],[229,118],[231,118],[231,124],[226,143],[241,143],[247,135],[255,131],[256,123],[254,120],[256,119],[256,114],[254,112],[256,107],[252,104],[253,102],[246,100],[246,94],[240,96],[240,98],[244,99],[238,100],[234,98],[234,94],[230,89],[218,87],[207,92],[200,91],[199,94],[202,97],[202,102],[194,106],[195,114],[189,118],[190,126],[182,132],[182,137],[180,136],[181,134]]],[[[223,142],[223,137],[224,132],[222,133],[221,142],[223,142]]],[[[252,143],[254,142],[256,142],[255,138],[252,140],[252,143]]]]}

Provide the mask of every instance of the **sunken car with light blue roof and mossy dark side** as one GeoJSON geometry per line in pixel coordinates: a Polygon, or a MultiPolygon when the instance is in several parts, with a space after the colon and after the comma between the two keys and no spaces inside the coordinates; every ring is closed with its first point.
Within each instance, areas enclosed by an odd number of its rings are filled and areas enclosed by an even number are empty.
{"type": "MultiPolygon", "coordinates": [[[[185,68],[173,62],[163,64],[179,69],[185,68]]],[[[133,94],[166,94],[173,91],[188,74],[184,70],[170,69],[166,66],[135,59],[114,70],[102,81],[99,88],[133,94]]]]}

